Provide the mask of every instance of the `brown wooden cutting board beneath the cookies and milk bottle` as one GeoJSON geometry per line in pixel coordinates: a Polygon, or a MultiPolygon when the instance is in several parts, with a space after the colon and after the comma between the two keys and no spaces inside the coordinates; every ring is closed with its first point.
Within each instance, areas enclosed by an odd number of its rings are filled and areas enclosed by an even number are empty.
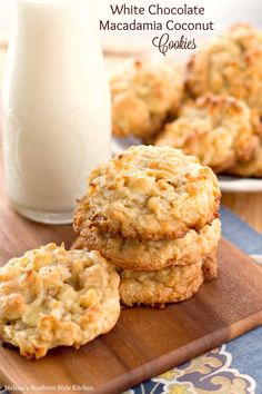
{"type": "MultiPolygon", "coordinates": [[[[33,224],[12,211],[0,171],[0,265],[49,242],[70,246],[73,238],[71,226],[33,224]]],[[[219,266],[219,278],[190,301],[162,311],[124,308],[112,332],[79,351],[58,348],[27,361],[0,347],[0,384],[17,385],[14,392],[24,394],[28,387],[42,393],[41,385],[68,385],[72,393],[82,393],[72,385],[84,385],[93,386],[93,393],[117,394],[261,325],[262,268],[225,240],[219,266]]]]}

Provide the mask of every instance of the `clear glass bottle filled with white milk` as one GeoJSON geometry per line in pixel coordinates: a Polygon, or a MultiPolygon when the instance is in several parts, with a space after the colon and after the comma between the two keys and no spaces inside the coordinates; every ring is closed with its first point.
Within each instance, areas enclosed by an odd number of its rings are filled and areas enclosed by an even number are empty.
{"type": "Polygon", "coordinates": [[[110,158],[110,89],[94,0],[17,0],[2,116],[13,208],[72,221],[89,171],[110,158]]]}

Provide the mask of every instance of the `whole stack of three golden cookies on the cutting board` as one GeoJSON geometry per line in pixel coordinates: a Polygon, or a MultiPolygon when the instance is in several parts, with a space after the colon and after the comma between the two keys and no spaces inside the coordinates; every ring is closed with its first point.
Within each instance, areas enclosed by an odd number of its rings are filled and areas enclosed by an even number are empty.
{"type": "Polygon", "coordinates": [[[180,302],[216,276],[219,206],[216,177],[198,159],[131,147],[91,173],[74,216],[78,247],[119,267],[123,304],[180,302]]]}

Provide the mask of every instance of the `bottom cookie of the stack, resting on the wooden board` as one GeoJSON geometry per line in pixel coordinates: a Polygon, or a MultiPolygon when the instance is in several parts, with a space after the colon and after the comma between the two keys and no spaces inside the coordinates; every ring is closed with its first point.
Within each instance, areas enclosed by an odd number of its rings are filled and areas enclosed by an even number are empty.
{"type": "Polygon", "coordinates": [[[162,306],[192,297],[203,284],[216,276],[215,250],[203,262],[154,272],[120,272],[120,298],[127,306],[162,306]],[[206,264],[206,265],[205,265],[206,264]],[[205,277],[206,275],[206,277],[205,277]]]}

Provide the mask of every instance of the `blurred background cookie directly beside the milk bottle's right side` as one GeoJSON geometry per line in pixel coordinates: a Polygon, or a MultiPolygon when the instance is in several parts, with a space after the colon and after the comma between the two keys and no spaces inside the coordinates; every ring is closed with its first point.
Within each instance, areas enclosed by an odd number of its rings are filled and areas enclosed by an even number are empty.
{"type": "Polygon", "coordinates": [[[149,139],[181,102],[182,76],[164,62],[134,61],[111,79],[113,134],[149,139]]]}

